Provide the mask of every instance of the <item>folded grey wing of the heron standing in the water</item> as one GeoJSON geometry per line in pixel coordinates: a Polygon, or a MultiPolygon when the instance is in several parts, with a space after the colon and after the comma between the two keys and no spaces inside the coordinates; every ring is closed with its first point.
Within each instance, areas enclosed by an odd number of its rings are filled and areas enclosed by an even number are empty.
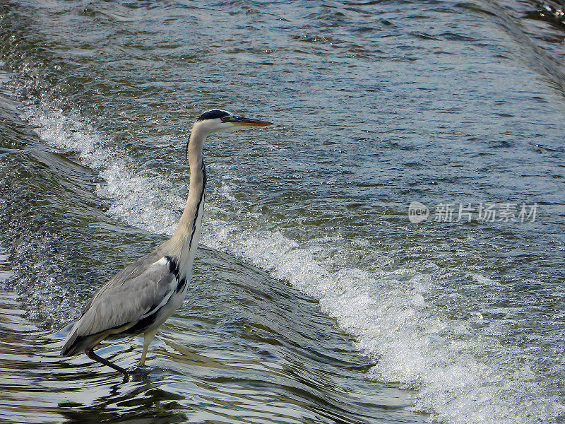
{"type": "Polygon", "coordinates": [[[145,314],[158,310],[174,294],[177,276],[172,272],[169,259],[161,257],[151,262],[155,256],[148,255],[136,263],[139,271],[129,272],[127,267],[108,281],[85,305],[83,316],[73,326],[64,343],[61,353],[76,351],[76,341],[95,336],[121,332],[135,325],[145,314]],[[130,278],[124,278],[129,273],[130,278]]]}

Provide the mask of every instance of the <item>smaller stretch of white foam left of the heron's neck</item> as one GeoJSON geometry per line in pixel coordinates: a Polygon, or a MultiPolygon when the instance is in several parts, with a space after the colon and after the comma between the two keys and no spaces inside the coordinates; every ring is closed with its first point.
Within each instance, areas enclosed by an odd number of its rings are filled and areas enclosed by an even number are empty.
{"type": "Polygon", "coordinates": [[[150,232],[172,234],[177,225],[175,211],[182,209],[184,199],[168,193],[155,196],[170,187],[167,180],[143,169],[119,146],[108,146],[77,114],[67,116],[56,108],[33,105],[25,107],[22,117],[50,146],[76,153],[83,165],[99,173],[104,183],[97,184],[96,194],[109,201],[110,215],[150,232]]]}

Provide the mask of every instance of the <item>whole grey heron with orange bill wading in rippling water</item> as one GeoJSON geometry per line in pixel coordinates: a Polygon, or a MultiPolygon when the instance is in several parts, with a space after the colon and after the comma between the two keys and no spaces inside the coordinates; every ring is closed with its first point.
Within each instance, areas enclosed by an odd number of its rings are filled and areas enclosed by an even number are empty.
{"type": "Polygon", "coordinates": [[[206,167],[202,157],[208,134],[242,126],[267,126],[270,122],[234,116],[225,110],[208,110],[192,127],[186,156],[189,160],[189,196],[172,237],[122,269],[86,302],[81,318],[66,336],[61,355],[86,353],[88,358],[127,375],[118,365],[101,358],[94,348],[103,340],[143,333],[140,365],[160,325],[179,307],[188,290],[192,262],[202,227],[206,196],[206,167]]]}

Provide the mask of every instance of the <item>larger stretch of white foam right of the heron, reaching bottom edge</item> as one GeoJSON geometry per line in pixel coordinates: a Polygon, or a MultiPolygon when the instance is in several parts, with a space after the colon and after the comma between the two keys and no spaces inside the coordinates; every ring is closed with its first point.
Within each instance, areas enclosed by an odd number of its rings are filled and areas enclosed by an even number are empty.
{"type": "Polygon", "coordinates": [[[318,299],[324,313],[357,336],[359,351],[374,358],[367,377],[419,389],[413,409],[429,413],[431,420],[540,423],[564,413],[530,367],[513,360],[515,350],[481,336],[470,322],[434,314],[424,300],[434,288],[430,276],[408,269],[331,273],[318,264],[315,252],[280,233],[214,226],[208,245],[251,259],[318,299]]]}

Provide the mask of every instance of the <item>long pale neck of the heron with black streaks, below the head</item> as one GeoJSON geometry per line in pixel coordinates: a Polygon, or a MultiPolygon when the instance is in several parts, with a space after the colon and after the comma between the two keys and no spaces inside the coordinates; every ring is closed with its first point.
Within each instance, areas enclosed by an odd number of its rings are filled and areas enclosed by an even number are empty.
{"type": "Polygon", "coordinates": [[[171,254],[178,261],[179,271],[189,274],[194,260],[202,225],[204,197],[206,196],[206,167],[202,158],[202,145],[206,138],[198,126],[194,126],[186,148],[189,158],[189,196],[177,230],[171,237],[171,254]]]}

